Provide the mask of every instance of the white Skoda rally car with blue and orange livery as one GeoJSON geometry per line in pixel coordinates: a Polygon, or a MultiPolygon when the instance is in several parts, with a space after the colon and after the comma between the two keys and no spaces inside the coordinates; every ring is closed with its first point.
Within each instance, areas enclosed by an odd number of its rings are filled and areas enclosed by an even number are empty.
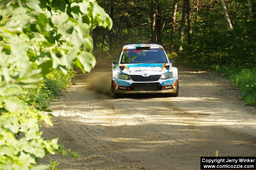
{"type": "Polygon", "coordinates": [[[178,71],[158,44],[125,44],[112,63],[111,95],[121,93],[179,94],[178,71]]]}

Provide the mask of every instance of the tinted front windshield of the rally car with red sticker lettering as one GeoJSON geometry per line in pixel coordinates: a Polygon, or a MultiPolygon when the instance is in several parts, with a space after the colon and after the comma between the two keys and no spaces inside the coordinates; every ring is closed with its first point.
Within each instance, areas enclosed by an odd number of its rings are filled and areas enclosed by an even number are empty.
{"type": "Polygon", "coordinates": [[[120,63],[168,63],[168,60],[162,48],[125,49],[120,63]]]}

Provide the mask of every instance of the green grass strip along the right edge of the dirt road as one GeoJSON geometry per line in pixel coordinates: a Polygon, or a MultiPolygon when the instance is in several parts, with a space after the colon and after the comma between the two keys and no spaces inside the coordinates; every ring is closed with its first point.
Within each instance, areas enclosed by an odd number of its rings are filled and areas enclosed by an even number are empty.
{"type": "MultiPolygon", "coordinates": [[[[231,82],[234,82],[241,89],[241,99],[245,100],[248,106],[256,106],[256,67],[250,68],[247,65],[231,64],[231,65],[210,65],[202,64],[195,61],[188,61],[186,57],[178,57],[177,54],[168,54],[168,57],[183,65],[200,68],[220,73],[226,76],[231,82]]],[[[223,89],[220,89],[223,91],[223,89]]]]}

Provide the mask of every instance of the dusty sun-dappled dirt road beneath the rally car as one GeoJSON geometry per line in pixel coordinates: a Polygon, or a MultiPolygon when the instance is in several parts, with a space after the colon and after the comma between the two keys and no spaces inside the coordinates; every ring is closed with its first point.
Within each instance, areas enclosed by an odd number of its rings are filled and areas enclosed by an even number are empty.
{"type": "Polygon", "coordinates": [[[111,68],[98,63],[53,102],[59,137],[82,158],[52,156],[59,169],[199,169],[200,156],[255,156],[256,111],[234,87],[211,73],[178,67],[179,97],[113,99],[111,68]],[[97,78],[100,76],[100,79],[97,78]]]}

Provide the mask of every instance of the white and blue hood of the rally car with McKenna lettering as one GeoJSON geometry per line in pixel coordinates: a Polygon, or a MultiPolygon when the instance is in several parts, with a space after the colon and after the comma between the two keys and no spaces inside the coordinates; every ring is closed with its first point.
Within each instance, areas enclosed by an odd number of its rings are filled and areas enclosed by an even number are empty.
{"type": "Polygon", "coordinates": [[[141,75],[141,76],[150,76],[150,75],[160,75],[166,73],[167,70],[165,66],[170,65],[169,63],[139,63],[139,64],[120,64],[124,66],[123,73],[129,75],[141,75]]]}

